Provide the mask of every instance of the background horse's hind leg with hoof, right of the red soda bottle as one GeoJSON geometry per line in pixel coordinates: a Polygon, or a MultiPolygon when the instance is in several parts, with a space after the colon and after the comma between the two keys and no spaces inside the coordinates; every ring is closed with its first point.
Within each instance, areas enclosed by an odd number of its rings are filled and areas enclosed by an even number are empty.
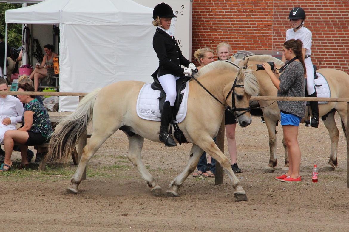
{"type": "Polygon", "coordinates": [[[338,149],[338,137],[339,130],[334,120],[335,112],[328,114],[328,117],[324,121],[325,127],[328,130],[329,138],[331,139],[331,153],[329,156],[329,161],[325,166],[327,171],[334,171],[337,166],[337,149],[338,149]]]}

